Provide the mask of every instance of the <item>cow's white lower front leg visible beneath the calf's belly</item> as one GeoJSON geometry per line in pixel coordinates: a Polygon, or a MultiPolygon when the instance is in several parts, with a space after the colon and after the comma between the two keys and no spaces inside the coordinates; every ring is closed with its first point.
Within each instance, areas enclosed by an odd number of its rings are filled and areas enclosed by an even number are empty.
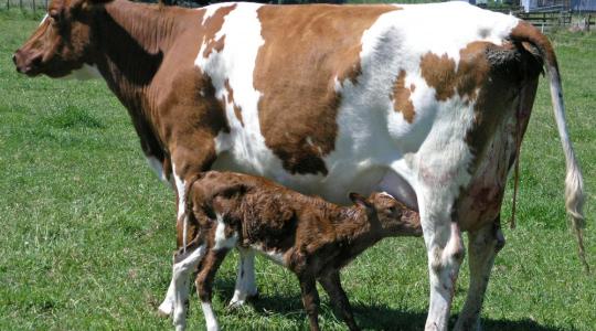
{"type": "Polygon", "coordinates": [[[255,253],[249,248],[238,247],[238,268],[236,274],[236,288],[228,308],[233,309],[246,302],[249,297],[257,296],[255,282],[255,253]]]}

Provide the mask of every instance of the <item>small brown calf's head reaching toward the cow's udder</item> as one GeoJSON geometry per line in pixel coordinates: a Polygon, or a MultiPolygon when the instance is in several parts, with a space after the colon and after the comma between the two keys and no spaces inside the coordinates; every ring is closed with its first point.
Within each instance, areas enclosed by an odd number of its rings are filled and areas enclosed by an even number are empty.
{"type": "Polygon", "coordinates": [[[422,235],[418,213],[387,193],[374,192],[369,197],[358,193],[350,193],[350,200],[354,204],[364,207],[371,224],[379,224],[381,231],[387,235],[422,235]]]}

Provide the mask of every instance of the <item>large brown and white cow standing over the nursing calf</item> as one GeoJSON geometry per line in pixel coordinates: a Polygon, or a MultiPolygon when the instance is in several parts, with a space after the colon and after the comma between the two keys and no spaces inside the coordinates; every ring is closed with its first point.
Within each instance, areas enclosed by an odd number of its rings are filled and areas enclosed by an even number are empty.
{"type": "MultiPolygon", "coordinates": [[[[429,330],[447,328],[461,231],[470,233],[470,290],[456,329],[479,327],[504,244],[505,179],[543,66],[566,159],[567,211],[575,228],[583,222],[555,54],[511,15],[460,2],[189,10],[52,0],[14,62],[30,76],[93,67],[104,77],[150,162],[159,169],[171,160],[179,245],[185,183],[207,169],[259,174],[340,203],[350,191],[386,191],[418,210],[429,330]]],[[[233,302],[256,290],[252,253],[243,256],[233,302]]],[[[170,286],[163,312],[173,296],[170,286]]]]}

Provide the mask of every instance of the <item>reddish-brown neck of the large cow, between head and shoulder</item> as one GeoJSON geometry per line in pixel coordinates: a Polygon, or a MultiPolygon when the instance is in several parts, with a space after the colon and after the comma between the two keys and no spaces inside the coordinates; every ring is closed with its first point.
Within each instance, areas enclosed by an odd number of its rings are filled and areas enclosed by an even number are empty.
{"type": "Polygon", "coordinates": [[[181,9],[115,0],[94,26],[102,75],[128,109],[145,153],[161,160],[149,87],[180,30],[175,11],[181,9]]]}

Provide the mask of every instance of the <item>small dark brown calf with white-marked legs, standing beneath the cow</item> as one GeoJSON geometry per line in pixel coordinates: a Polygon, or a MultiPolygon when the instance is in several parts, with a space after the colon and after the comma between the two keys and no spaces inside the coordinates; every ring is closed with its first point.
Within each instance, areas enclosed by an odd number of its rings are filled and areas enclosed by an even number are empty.
{"type": "Polygon", "coordinates": [[[384,237],[422,235],[418,213],[386,193],[368,199],[350,193],[354,205],[338,206],[264,178],[210,171],[189,185],[187,197],[192,241],[174,256],[177,329],[184,328],[189,276],[202,261],[196,289],[207,330],[217,330],[212,282],[226,253],[237,246],[255,249],[298,276],[311,330],[319,330],[316,280],[350,330],[358,330],[339,270],[384,237]]]}

